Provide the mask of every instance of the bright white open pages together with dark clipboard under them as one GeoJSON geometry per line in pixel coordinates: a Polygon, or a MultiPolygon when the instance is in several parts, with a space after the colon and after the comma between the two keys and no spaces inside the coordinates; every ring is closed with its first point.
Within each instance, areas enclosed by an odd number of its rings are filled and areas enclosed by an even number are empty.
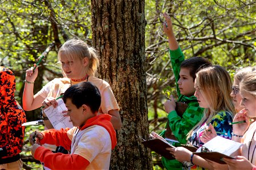
{"type": "Polygon", "coordinates": [[[241,146],[242,143],[217,136],[201,146],[194,154],[213,162],[226,164],[221,158],[234,159],[231,155],[241,146]]]}

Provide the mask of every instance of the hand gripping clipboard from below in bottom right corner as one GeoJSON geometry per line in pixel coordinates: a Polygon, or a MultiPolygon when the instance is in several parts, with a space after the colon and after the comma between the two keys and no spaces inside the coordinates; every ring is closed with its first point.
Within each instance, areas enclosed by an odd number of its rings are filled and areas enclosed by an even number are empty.
{"type": "Polygon", "coordinates": [[[229,169],[253,169],[253,164],[243,156],[235,156],[235,159],[223,158],[223,161],[229,165],[229,169]]]}

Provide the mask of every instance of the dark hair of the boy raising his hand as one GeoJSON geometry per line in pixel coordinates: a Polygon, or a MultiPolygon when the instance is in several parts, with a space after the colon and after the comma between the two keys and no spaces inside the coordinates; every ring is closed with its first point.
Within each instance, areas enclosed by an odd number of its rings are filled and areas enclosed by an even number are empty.
{"type": "Polygon", "coordinates": [[[210,61],[204,57],[191,57],[181,62],[180,68],[189,69],[190,75],[195,81],[197,71],[211,65],[212,63],[210,63],[210,61]]]}

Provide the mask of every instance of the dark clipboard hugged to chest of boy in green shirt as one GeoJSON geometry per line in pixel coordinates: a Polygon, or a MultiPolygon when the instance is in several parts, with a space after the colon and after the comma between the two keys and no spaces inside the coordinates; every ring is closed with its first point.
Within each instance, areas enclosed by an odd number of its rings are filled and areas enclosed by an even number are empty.
{"type": "MultiPolygon", "coordinates": [[[[177,112],[178,116],[182,117],[183,113],[186,111],[187,108],[188,104],[176,101],[175,111],[177,112]]],[[[177,141],[175,135],[172,134],[172,130],[169,126],[169,121],[167,121],[166,133],[164,134],[164,137],[177,141]]]]}

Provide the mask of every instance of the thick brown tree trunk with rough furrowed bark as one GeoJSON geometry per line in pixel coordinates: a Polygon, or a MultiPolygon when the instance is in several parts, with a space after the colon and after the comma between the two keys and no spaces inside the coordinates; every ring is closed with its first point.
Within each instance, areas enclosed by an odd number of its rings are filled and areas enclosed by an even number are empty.
{"type": "Polygon", "coordinates": [[[112,87],[122,118],[111,169],[152,169],[150,151],[138,138],[149,134],[144,1],[92,0],[91,11],[93,45],[101,57],[98,77],[112,87]]]}

